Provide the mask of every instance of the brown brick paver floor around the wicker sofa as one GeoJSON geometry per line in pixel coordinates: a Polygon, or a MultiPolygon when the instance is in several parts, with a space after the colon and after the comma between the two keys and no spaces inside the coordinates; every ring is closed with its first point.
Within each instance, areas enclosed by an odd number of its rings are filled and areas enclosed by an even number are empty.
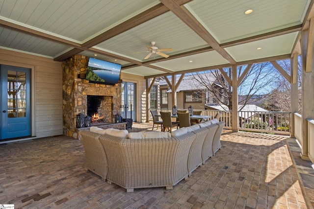
{"type": "MultiPolygon", "coordinates": [[[[130,132],[151,128],[152,123],[135,123],[130,132]]],[[[221,145],[173,190],[127,193],[83,169],[84,148],[77,139],[0,144],[0,204],[16,209],[312,208],[311,190],[304,189],[287,138],[224,131],[221,145]]]]}

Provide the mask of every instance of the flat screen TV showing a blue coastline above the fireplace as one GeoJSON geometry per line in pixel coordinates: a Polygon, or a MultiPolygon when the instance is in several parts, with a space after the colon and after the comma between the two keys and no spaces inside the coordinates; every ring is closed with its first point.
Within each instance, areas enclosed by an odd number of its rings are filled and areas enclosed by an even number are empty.
{"type": "Polygon", "coordinates": [[[117,84],[121,65],[90,57],[85,79],[91,83],[117,84]]]}

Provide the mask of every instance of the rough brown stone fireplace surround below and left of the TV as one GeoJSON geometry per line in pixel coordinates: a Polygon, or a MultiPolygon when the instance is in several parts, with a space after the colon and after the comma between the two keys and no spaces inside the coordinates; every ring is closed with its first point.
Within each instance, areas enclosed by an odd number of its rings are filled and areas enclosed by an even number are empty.
{"type": "Polygon", "coordinates": [[[79,113],[87,114],[87,95],[111,96],[111,122],[114,123],[115,115],[120,113],[121,84],[105,85],[89,83],[78,78],[78,74],[86,74],[89,57],[75,55],[62,62],[62,111],[63,134],[77,138],[76,116],[79,113]]]}

